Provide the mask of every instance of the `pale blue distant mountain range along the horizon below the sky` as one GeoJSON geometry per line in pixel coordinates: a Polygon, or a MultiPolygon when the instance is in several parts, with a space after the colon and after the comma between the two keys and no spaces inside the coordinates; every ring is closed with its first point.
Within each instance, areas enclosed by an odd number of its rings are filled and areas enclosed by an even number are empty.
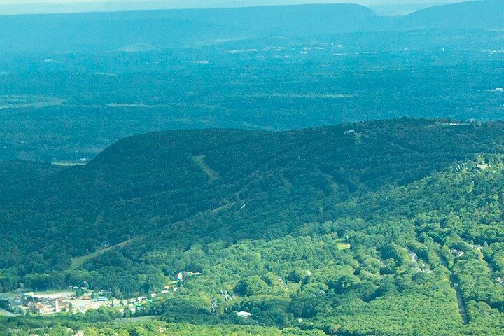
{"type": "Polygon", "coordinates": [[[381,17],[352,4],[2,16],[0,48],[3,52],[78,52],[141,44],[162,49],[209,40],[424,27],[504,28],[504,2],[457,3],[403,17],[381,17]]]}

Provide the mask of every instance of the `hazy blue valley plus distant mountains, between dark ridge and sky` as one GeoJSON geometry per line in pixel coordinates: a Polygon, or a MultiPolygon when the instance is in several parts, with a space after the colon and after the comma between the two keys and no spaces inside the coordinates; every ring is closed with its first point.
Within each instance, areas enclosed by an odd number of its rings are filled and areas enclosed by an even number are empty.
{"type": "Polygon", "coordinates": [[[153,130],[498,119],[502,5],[3,16],[0,158],[91,160],[153,130]]]}

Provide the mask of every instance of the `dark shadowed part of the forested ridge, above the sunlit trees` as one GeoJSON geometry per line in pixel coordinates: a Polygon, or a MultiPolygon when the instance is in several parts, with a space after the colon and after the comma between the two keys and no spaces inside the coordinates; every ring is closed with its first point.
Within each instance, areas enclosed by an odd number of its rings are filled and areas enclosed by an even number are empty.
{"type": "Polygon", "coordinates": [[[500,153],[503,133],[500,123],[431,120],[290,132],[154,132],[118,141],[85,166],[2,163],[8,197],[0,206],[10,218],[4,225],[27,235],[26,248],[37,251],[39,237],[63,239],[70,255],[82,255],[104,241],[117,243],[258,192],[295,190],[296,183],[342,200],[387,183],[405,185],[477,153],[500,153]],[[51,235],[47,223],[55,225],[51,235]]]}

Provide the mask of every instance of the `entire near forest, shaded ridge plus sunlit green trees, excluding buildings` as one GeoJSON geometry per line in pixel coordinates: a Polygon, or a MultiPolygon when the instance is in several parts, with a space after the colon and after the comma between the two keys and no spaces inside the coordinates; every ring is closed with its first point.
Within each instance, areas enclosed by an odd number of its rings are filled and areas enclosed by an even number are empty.
{"type": "Polygon", "coordinates": [[[3,291],[179,290],[135,312],[150,322],[123,324],[110,308],[1,324],[500,335],[503,135],[501,122],[407,118],[179,130],[127,137],[85,166],[2,162],[3,291]]]}

